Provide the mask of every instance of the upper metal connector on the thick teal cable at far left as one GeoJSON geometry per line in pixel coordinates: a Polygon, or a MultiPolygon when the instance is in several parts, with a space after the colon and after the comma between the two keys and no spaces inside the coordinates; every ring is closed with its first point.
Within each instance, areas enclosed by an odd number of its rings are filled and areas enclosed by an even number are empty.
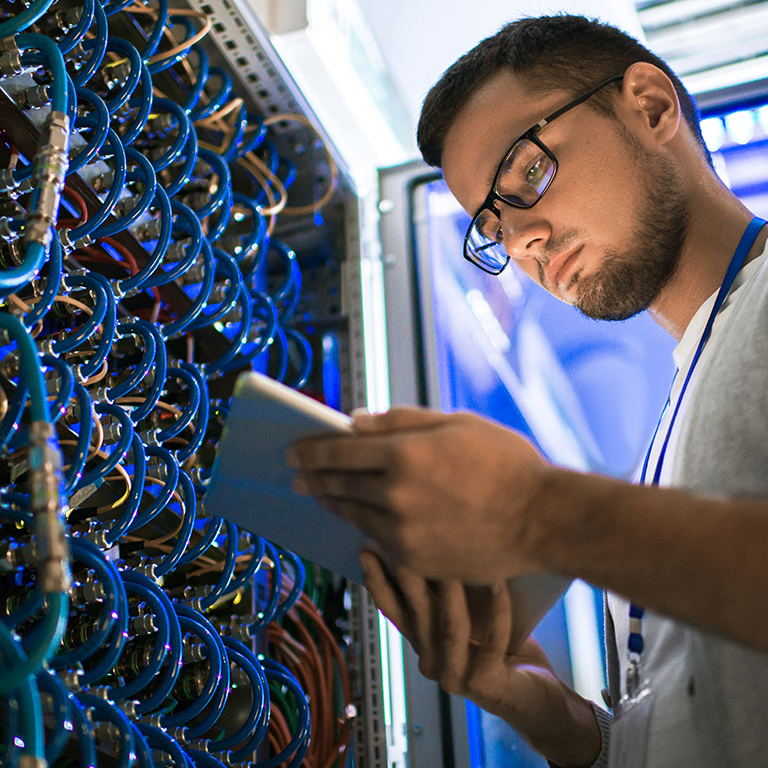
{"type": "Polygon", "coordinates": [[[43,124],[34,160],[33,198],[24,242],[47,246],[56,223],[61,189],[69,167],[69,117],[51,111],[43,124]]]}

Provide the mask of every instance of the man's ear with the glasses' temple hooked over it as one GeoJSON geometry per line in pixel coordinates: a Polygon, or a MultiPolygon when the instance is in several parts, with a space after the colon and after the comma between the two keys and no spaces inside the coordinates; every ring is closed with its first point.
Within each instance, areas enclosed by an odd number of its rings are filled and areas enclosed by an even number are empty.
{"type": "Polygon", "coordinates": [[[639,61],[627,69],[622,103],[635,127],[658,146],[666,144],[680,129],[680,101],[675,86],[653,64],[639,61]]]}

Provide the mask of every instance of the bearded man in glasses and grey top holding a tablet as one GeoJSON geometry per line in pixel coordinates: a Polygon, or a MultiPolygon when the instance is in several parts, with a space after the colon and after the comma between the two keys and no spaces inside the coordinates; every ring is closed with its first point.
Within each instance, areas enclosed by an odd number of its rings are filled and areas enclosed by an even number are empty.
{"type": "Polygon", "coordinates": [[[380,545],[390,564],[363,553],[366,583],[422,671],[552,764],[768,764],[766,228],[668,67],[580,17],[515,22],[462,57],[419,146],[474,217],[467,258],[511,258],[595,318],[648,309],[678,339],[646,485],[553,467],[472,415],[393,409],[297,445],[297,488],[380,545]],[[508,654],[500,585],[535,572],[610,591],[612,725],[533,641],[508,654]],[[491,588],[479,637],[463,583],[491,588]]]}

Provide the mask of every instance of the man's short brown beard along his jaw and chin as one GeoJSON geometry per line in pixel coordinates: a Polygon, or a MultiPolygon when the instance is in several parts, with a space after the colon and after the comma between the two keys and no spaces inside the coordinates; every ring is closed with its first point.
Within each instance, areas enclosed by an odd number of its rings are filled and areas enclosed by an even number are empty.
{"type": "Polygon", "coordinates": [[[574,305],[595,320],[627,320],[648,309],[674,275],[688,229],[688,200],[673,163],[628,143],[645,190],[632,245],[607,251],[594,274],[580,279],[576,273],[571,279],[578,284],[574,305]]]}

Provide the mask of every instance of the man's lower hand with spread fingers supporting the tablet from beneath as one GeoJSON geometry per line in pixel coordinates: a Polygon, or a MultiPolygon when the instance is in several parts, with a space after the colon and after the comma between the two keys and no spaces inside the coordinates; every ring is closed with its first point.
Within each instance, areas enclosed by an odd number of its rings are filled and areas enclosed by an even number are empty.
{"type": "Polygon", "coordinates": [[[590,703],[555,676],[535,640],[507,653],[512,606],[504,586],[493,590],[491,619],[472,640],[462,584],[429,583],[404,566],[387,571],[367,550],[360,562],[371,597],[413,646],[423,675],[502,717],[556,765],[597,759],[602,738],[590,703]]]}

